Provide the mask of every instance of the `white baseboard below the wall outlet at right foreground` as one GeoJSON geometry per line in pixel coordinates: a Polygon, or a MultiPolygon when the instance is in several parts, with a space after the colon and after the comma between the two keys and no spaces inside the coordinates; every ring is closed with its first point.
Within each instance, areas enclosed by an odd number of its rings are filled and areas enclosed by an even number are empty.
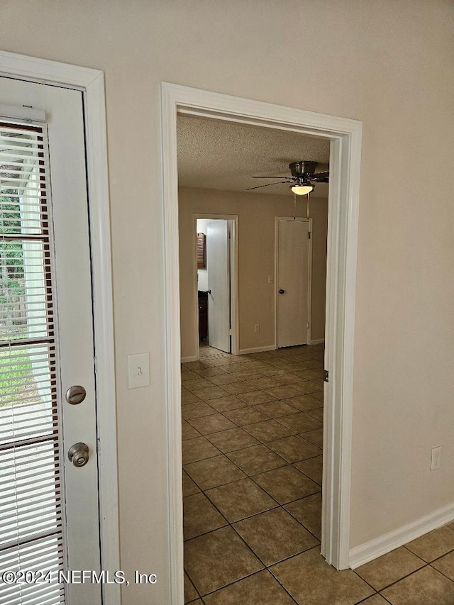
{"type": "Polygon", "coordinates": [[[406,525],[381,535],[380,538],[375,538],[355,548],[350,548],[349,565],[352,570],[360,565],[381,557],[389,553],[394,548],[399,548],[419,538],[421,535],[428,533],[438,527],[441,527],[454,519],[454,504],[443,506],[442,509],[437,509],[426,516],[423,516],[416,521],[406,523],[406,525]]]}

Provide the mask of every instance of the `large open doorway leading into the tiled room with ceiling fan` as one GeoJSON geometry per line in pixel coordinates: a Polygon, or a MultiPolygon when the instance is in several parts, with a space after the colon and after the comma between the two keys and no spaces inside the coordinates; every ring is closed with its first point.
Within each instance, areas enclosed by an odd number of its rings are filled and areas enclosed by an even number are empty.
{"type": "MultiPolygon", "coordinates": [[[[306,216],[306,198],[295,204],[287,184],[247,192],[255,182],[246,176],[235,184],[236,168],[230,164],[240,148],[243,162],[253,156],[252,148],[258,148],[260,160],[243,170],[282,172],[284,178],[294,154],[304,154],[307,140],[238,124],[207,126],[203,119],[181,116],[178,120],[184,124],[178,148],[187,148],[184,157],[179,155],[182,350],[187,326],[196,326],[198,338],[195,359],[186,355],[182,359],[184,570],[190,599],[222,591],[225,583],[242,589],[253,562],[260,560],[269,567],[320,548],[328,187],[317,185],[311,203],[319,244],[320,287],[314,292],[314,305],[321,309],[321,321],[314,328],[319,342],[311,347],[313,221],[306,216]],[[210,128],[217,131],[209,137],[218,147],[214,157],[220,160],[226,154],[226,191],[205,188],[213,186],[216,167],[207,170],[206,164],[200,165],[199,146],[204,145],[199,136],[206,142],[210,128]],[[260,136],[267,144],[255,140],[260,136]],[[280,139],[282,160],[273,167],[270,159],[265,169],[264,156],[277,152],[275,138],[280,139]],[[198,182],[194,174],[199,174],[198,182]],[[213,213],[204,214],[209,206],[213,213]],[[243,355],[229,355],[230,278],[236,264],[231,262],[235,221],[221,214],[226,211],[238,212],[241,229],[238,323],[243,355]],[[186,316],[191,253],[196,321],[186,316]],[[205,553],[217,548],[222,554],[204,562],[205,553]],[[232,549],[247,556],[248,562],[238,563],[231,573],[227,567],[232,549]]],[[[319,164],[327,168],[328,141],[319,141],[318,153],[319,164]]]]}

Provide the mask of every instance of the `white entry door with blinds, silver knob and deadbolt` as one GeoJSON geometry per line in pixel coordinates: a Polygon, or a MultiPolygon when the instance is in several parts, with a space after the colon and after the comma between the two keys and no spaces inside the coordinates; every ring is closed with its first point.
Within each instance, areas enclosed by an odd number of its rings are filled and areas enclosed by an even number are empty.
{"type": "Polygon", "coordinates": [[[0,105],[0,604],[99,605],[60,575],[100,572],[82,93],[2,77],[0,105]]]}

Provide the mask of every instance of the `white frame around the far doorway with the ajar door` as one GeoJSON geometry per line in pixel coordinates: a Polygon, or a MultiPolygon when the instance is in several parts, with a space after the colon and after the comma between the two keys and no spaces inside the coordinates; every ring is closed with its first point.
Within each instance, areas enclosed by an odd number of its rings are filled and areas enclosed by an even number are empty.
{"type": "MultiPolygon", "coordinates": [[[[197,231],[197,218],[212,218],[214,220],[220,218],[224,221],[231,221],[231,257],[230,257],[230,304],[231,304],[231,355],[238,355],[240,348],[240,340],[238,335],[238,214],[206,214],[194,213],[194,275],[195,275],[195,300],[197,300],[197,247],[195,234],[197,231]],[[233,254],[232,254],[233,252],[233,254]]],[[[195,317],[195,343],[197,359],[199,360],[199,305],[196,305],[195,317]]]]}

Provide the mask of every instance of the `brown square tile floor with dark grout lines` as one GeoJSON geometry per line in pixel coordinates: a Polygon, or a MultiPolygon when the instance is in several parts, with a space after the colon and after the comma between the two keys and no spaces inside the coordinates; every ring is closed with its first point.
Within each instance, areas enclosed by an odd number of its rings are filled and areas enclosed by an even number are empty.
{"type": "Polygon", "coordinates": [[[320,555],[323,346],[182,365],[184,600],[454,605],[454,522],[355,571],[320,555]]]}

